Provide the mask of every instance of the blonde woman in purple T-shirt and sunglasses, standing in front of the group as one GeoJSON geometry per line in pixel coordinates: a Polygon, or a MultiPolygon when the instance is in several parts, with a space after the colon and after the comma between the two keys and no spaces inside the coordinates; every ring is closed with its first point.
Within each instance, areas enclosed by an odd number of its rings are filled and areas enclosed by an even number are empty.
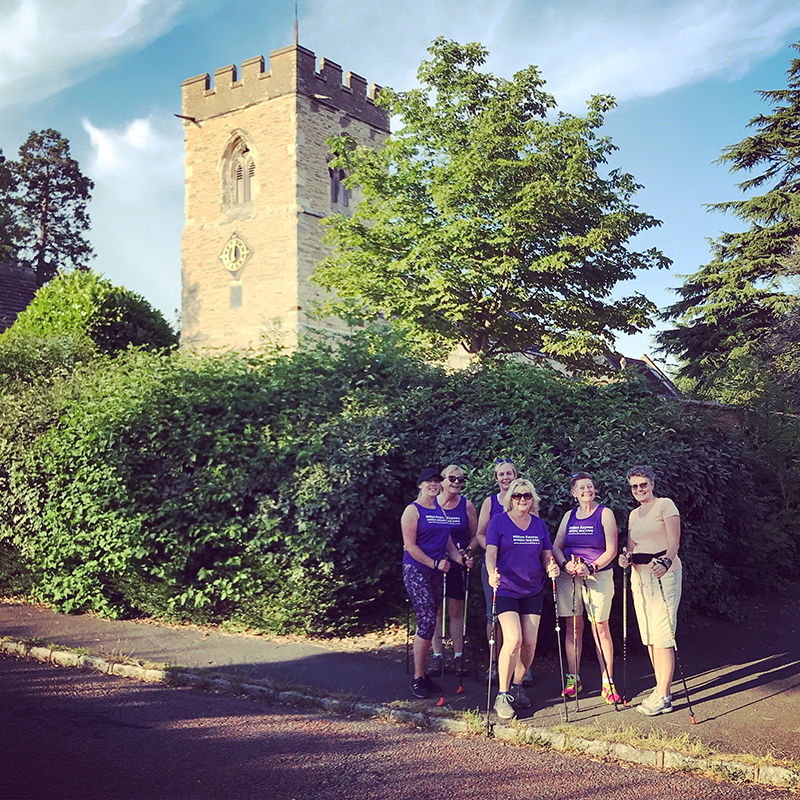
{"type": "Polygon", "coordinates": [[[511,719],[531,705],[522,680],[536,652],[545,577],[557,577],[559,568],[547,528],[537,516],[533,484],[524,478],[512,481],[503,507],[505,513],[492,517],[486,529],[486,568],[503,631],[494,709],[501,719],[511,719]]]}

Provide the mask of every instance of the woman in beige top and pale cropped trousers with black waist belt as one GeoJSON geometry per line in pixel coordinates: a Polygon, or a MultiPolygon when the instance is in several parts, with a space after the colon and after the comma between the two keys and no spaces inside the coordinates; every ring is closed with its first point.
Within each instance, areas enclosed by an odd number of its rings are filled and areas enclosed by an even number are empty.
{"type": "Polygon", "coordinates": [[[653,717],[672,711],[673,637],[682,583],[678,558],[681,518],[672,500],[656,497],[656,476],[650,467],[631,467],[627,478],[639,508],[630,513],[628,545],[619,564],[623,569],[633,564],[631,590],[636,619],[656,677],[656,688],[637,711],[653,717]]]}

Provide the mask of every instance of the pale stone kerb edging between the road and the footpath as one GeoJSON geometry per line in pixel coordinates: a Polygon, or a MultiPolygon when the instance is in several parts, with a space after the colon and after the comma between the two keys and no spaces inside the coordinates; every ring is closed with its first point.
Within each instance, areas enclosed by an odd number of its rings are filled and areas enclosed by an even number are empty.
{"type": "MultiPolygon", "coordinates": [[[[220,694],[235,694],[251,700],[269,700],[294,707],[319,708],[335,714],[385,719],[400,725],[428,728],[452,735],[475,733],[474,728],[471,728],[466,719],[460,716],[448,717],[442,712],[429,714],[336,697],[317,697],[297,690],[229,680],[218,672],[209,675],[181,667],[152,669],[140,664],[108,661],[98,656],[79,655],[70,650],[57,650],[8,640],[0,641],[0,653],[60,667],[78,667],[123,678],[164,683],[168,686],[188,686],[220,694]]],[[[493,730],[495,738],[522,745],[586,753],[596,758],[626,761],[653,769],[712,773],[735,782],[789,789],[800,787],[800,770],[774,764],[744,763],[731,756],[694,757],[668,749],[653,750],[621,742],[588,739],[518,721],[504,725],[495,724],[493,730]]]]}

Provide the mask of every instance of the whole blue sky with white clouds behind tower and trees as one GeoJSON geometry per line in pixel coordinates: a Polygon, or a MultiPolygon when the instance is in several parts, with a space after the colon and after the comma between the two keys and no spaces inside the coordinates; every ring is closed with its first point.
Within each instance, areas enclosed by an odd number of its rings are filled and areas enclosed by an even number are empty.
{"type": "MultiPolygon", "coordinates": [[[[0,148],[57,128],[96,184],[93,266],[143,294],[169,319],[180,306],[183,132],[180,84],[292,41],[293,0],[3,0],[0,148]]],[[[537,64],[560,108],[594,93],[619,107],[605,132],[611,166],[644,188],[638,205],[663,221],[640,246],[674,266],[620,287],[663,307],[680,275],[708,260],[708,237],[736,220],[703,206],[738,196],[713,162],[767,110],[759,89],[786,85],[800,39],[793,0],[300,0],[300,43],[364,76],[411,88],[438,35],[480,41],[488,68],[510,77],[537,64]]],[[[621,336],[629,356],[650,336],[621,336]]]]}

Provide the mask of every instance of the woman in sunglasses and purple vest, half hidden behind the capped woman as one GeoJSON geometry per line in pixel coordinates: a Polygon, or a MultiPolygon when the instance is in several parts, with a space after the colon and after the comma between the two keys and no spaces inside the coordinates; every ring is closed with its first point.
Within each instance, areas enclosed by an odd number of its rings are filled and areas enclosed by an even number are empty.
{"type": "MultiPolygon", "coordinates": [[[[466,478],[457,464],[442,470],[442,489],[439,508],[450,524],[450,538],[459,551],[467,552],[477,544],[478,514],[475,506],[461,496],[466,478]]],[[[450,636],[453,639],[453,670],[461,675],[464,669],[464,597],[466,595],[464,569],[453,566],[447,573],[447,616],[450,619],[450,636]]],[[[442,607],[436,615],[436,632],[433,636],[434,675],[444,674],[444,642],[442,641],[442,607]]]]}

